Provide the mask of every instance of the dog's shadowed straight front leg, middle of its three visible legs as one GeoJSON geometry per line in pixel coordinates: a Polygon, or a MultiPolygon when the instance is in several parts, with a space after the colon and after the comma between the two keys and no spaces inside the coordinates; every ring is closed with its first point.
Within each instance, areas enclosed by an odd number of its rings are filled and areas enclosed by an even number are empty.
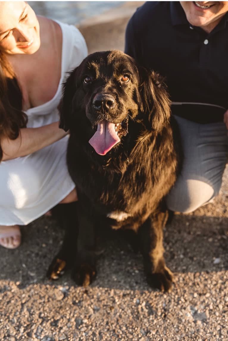
{"type": "Polygon", "coordinates": [[[76,262],[72,278],[78,285],[87,286],[96,277],[95,224],[81,204],[78,205],[79,233],[76,262]]]}

